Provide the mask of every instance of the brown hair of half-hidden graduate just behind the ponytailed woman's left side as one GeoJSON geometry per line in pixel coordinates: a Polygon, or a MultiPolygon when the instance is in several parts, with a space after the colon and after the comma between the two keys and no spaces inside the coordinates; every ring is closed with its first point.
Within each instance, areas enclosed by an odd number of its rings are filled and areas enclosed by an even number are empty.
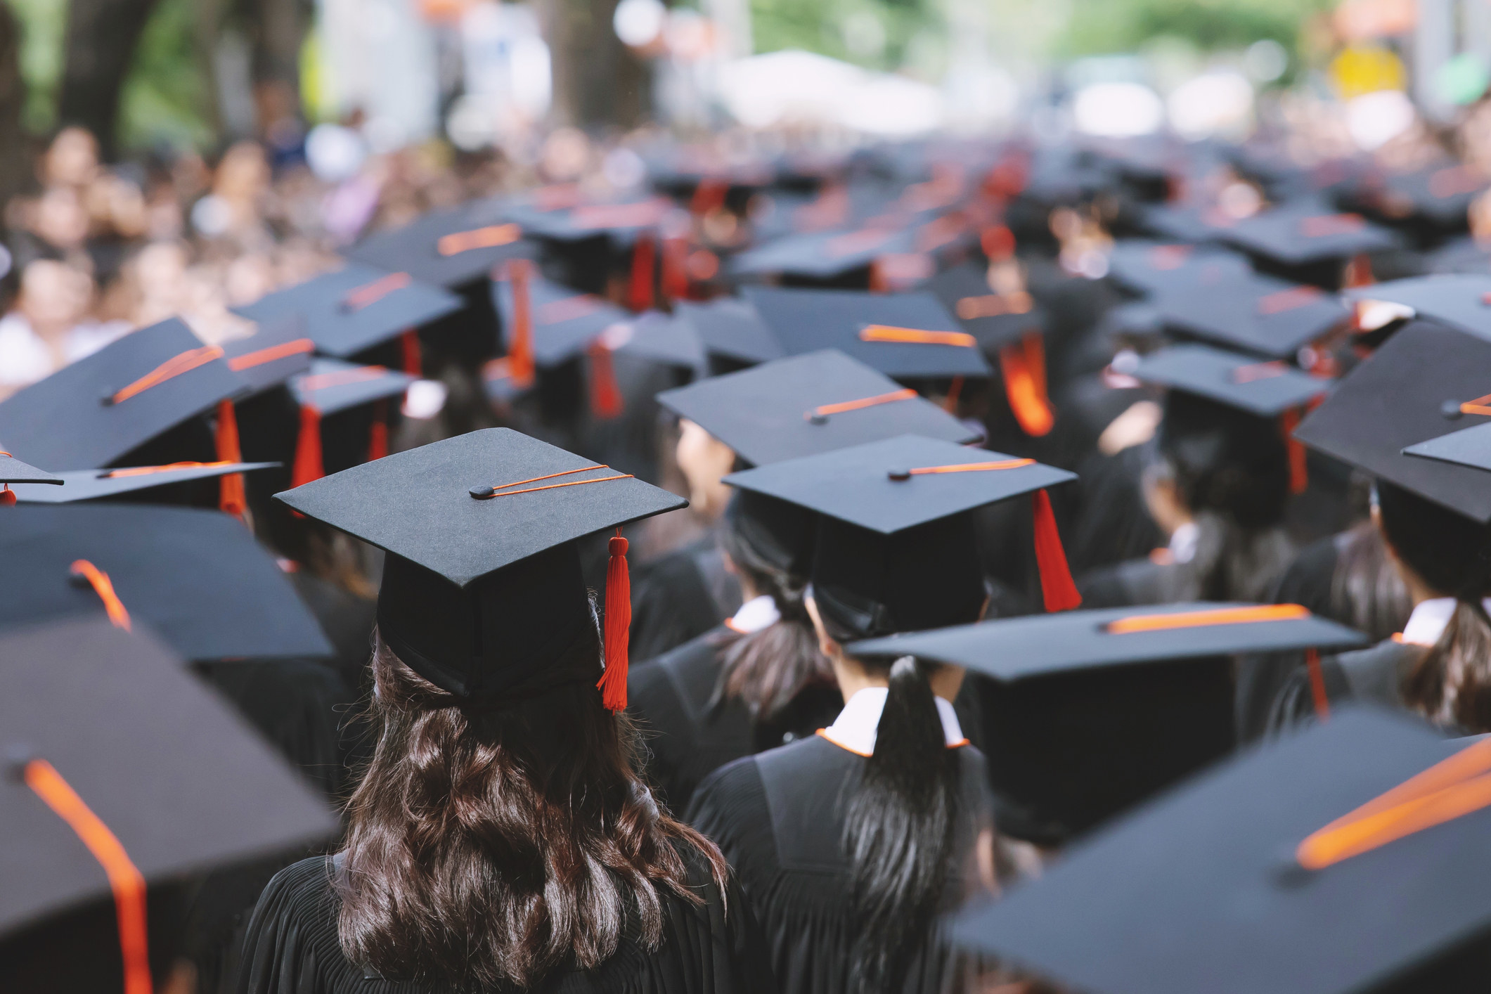
{"type": "Polygon", "coordinates": [[[714,700],[744,700],[757,720],[769,720],[808,684],[832,683],[833,666],[819,651],[804,605],[807,578],[774,562],[777,557],[751,541],[738,517],[726,516],[723,525],[725,554],[759,593],[771,596],[781,617],[725,647],[714,700]]]}

